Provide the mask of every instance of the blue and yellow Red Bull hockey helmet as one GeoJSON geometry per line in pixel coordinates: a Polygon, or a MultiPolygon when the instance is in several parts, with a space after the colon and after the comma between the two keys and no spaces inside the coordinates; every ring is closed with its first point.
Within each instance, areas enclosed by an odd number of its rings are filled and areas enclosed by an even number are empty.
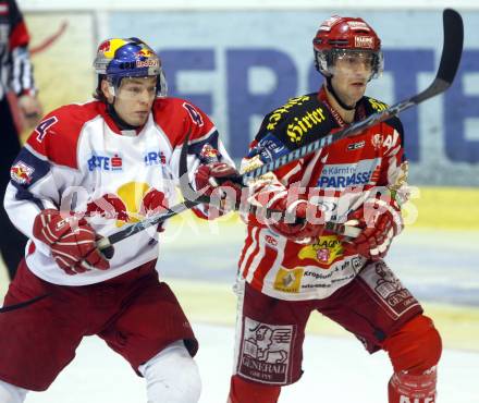
{"type": "Polygon", "coordinates": [[[158,54],[138,38],[103,40],[94,62],[100,80],[107,77],[118,89],[125,77],[157,77],[157,97],[165,97],[168,85],[158,54]]]}

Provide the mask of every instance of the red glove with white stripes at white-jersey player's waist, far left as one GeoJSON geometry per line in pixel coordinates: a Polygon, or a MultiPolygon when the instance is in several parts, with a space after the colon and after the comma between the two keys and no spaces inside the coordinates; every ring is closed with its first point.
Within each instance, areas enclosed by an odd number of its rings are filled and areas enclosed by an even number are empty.
{"type": "Polygon", "coordinates": [[[110,268],[97,248],[95,231],[85,219],[63,218],[58,210],[44,210],[35,218],[34,236],[50,246],[53,259],[66,274],[110,268]]]}

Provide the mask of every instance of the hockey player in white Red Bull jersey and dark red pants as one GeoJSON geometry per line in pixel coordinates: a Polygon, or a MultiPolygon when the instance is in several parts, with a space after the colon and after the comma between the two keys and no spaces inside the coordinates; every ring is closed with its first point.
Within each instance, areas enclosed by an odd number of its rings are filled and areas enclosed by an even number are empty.
{"type": "MultiPolygon", "coordinates": [[[[198,342],[155,268],[163,229],[118,243],[110,259],[96,241],[175,203],[187,133],[198,187],[208,191],[216,167],[224,174],[233,162],[200,109],[167,97],[161,61],[145,42],[105,40],[95,70],[96,100],[45,117],[11,168],[4,205],[29,242],[4,303],[47,296],[0,315],[0,402],[46,390],[90,334],[145,377],[148,402],[197,402],[198,342]]],[[[208,218],[201,206],[195,212],[208,218]]]]}

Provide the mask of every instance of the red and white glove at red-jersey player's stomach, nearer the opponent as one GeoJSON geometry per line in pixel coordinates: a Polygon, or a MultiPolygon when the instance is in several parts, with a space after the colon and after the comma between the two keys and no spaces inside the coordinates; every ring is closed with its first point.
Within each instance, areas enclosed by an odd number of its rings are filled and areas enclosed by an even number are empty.
{"type": "Polygon", "coordinates": [[[287,196],[284,196],[271,203],[268,209],[281,211],[282,218],[273,223],[267,221],[267,225],[294,242],[309,243],[324,231],[322,210],[308,200],[288,203],[287,196]]]}

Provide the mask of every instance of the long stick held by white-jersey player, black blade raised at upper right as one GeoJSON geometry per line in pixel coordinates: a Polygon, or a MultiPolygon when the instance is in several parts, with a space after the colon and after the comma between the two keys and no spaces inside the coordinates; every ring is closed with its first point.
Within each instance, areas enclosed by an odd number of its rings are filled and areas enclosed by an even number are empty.
{"type": "MultiPolygon", "coordinates": [[[[384,109],[383,111],[371,114],[369,118],[363,121],[345,126],[344,129],[335,132],[334,134],[326,135],[324,137],[321,137],[300,148],[297,148],[278,158],[274,161],[268,162],[259,168],[248,171],[235,178],[234,180],[243,185],[247,185],[248,182],[255,178],[261,176],[267,172],[274,171],[278,168],[281,168],[292,161],[298,160],[309,154],[319,150],[322,147],[336,143],[340,139],[343,139],[347,136],[357,134],[368,127],[373,126],[374,124],[378,124],[392,117],[395,117],[400,112],[410,107],[417,106],[420,102],[423,102],[425,100],[430,99],[445,91],[454,81],[454,76],[456,75],[460,62],[460,57],[463,53],[464,28],[463,28],[463,19],[460,17],[460,14],[452,9],[445,9],[443,12],[443,30],[444,30],[444,39],[443,39],[444,42],[443,42],[441,61],[439,64],[435,78],[428,88],[426,88],[421,93],[408,99],[405,99],[398,103],[393,105],[392,107],[384,109]]],[[[187,176],[185,178],[187,180],[187,176]]],[[[186,186],[184,187],[184,190],[186,191],[185,195],[188,196],[189,199],[193,199],[194,195],[189,197],[188,194],[188,192],[191,191],[186,186]]],[[[186,200],[185,203],[173,206],[170,209],[171,211],[167,212],[165,215],[151,217],[150,219],[144,220],[136,224],[132,224],[128,228],[113,235],[110,235],[109,237],[100,240],[98,242],[99,248],[105,253],[105,249],[111,247],[112,244],[120,242],[131,235],[134,235],[137,232],[143,231],[148,227],[161,223],[168,218],[171,218],[200,203],[204,203],[198,199],[194,202],[189,199],[186,200]]]]}

